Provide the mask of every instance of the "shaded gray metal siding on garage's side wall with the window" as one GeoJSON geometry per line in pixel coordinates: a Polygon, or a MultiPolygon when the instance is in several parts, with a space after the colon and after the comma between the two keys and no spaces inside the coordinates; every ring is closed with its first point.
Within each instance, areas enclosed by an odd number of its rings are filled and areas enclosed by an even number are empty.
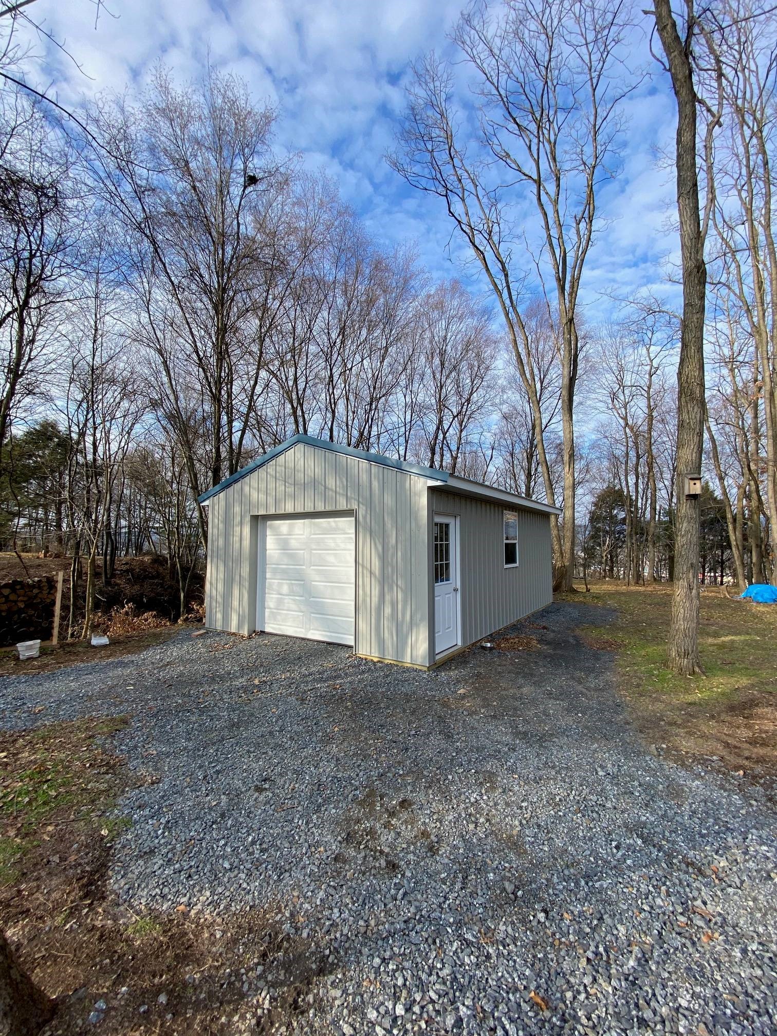
{"type": "MultiPolygon", "coordinates": [[[[550,604],[553,566],[548,515],[440,490],[429,495],[431,511],[459,516],[462,643],[480,640],[550,604]],[[518,515],[518,567],[506,569],[502,512],[510,510],[518,515]]],[[[431,572],[431,559],[429,565],[431,572]]],[[[431,651],[433,639],[432,624],[431,651]]]]}

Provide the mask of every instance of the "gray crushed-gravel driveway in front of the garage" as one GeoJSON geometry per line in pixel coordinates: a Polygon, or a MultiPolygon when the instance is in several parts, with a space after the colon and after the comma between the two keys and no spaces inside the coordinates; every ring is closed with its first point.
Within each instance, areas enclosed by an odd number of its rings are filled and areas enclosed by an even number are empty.
{"type": "Polygon", "coordinates": [[[295,1031],[773,1034],[773,805],[645,749],[573,632],[606,617],[552,605],[516,627],[539,651],[429,673],[184,632],[6,679],[0,721],[133,714],[161,779],[121,803],[116,892],[270,904],[327,960],[295,1031]]]}

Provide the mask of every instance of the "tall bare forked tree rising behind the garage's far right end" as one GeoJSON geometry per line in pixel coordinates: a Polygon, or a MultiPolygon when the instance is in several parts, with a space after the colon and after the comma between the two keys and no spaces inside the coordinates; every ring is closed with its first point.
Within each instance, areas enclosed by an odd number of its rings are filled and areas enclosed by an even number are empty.
{"type": "Polygon", "coordinates": [[[578,303],[597,227],[597,191],[611,175],[621,102],[633,87],[622,65],[626,24],[618,0],[508,0],[496,15],[474,4],[454,39],[474,75],[479,134],[471,133],[472,119],[458,117],[451,66],[432,55],[414,68],[400,153],[391,159],[409,183],[445,201],[495,293],[531,405],[550,502],[553,486],[521,312],[529,282],[539,283],[557,321],[564,539],[554,521],[553,540],[565,588],[574,566],[578,303]],[[517,268],[516,247],[534,278],[517,268]]]}

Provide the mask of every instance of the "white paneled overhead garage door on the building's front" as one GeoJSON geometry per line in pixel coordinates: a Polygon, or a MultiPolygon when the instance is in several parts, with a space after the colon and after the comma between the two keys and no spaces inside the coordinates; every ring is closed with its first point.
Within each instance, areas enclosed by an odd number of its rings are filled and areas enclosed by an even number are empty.
{"type": "Polygon", "coordinates": [[[353,516],[266,521],[264,630],[353,643],[353,516]]]}

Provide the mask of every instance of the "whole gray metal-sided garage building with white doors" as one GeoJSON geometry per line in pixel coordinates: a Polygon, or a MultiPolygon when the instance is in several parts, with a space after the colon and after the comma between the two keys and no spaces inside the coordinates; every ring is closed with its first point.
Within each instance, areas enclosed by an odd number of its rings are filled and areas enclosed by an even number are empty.
{"type": "Polygon", "coordinates": [[[307,435],[200,497],[205,623],[428,667],[548,604],[557,509],[307,435]]]}

